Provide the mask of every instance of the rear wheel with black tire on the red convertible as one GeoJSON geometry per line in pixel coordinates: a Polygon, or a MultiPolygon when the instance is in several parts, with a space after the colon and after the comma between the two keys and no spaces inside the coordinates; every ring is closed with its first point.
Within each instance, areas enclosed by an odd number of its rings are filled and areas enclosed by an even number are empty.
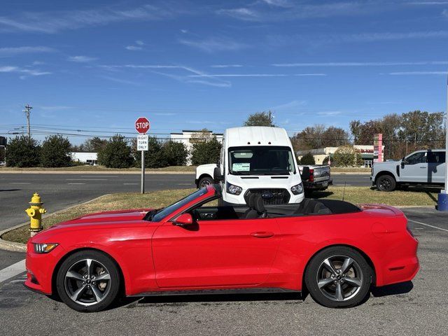
{"type": "Polygon", "coordinates": [[[370,293],[372,269],[363,255],[353,248],[333,246],[325,248],[311,259],[304,280],[309,294],[318,304],[329,308],[354,307],[370,293]],[[349,267],[342,273],[347,259],[353,262],[347,264],[349,267]],[[329,270],[327,262],[335,272],[329,270]]]}

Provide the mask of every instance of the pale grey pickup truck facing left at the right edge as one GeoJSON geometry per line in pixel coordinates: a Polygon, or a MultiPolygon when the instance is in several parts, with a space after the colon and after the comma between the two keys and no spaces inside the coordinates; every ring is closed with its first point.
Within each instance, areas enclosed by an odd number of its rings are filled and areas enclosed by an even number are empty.
{"type": "Polygon", "coordinates": [[[381,191],[407,186],[444,186],[446,163],[444,149],[425,149],[398,161],[377,162],[372,166],[370,181],[381,191]]]}

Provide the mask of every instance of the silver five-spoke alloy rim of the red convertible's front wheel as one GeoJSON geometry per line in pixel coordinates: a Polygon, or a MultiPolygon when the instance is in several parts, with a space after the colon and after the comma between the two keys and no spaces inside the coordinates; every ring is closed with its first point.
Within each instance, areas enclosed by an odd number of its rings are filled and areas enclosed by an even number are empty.
{"type": "Polygon", "coordinates": [[[104,300],[111,289],[111,274],[99,261],[75,262],[64,276],[66,294],[73,302],[88,307],[104,300]]]}

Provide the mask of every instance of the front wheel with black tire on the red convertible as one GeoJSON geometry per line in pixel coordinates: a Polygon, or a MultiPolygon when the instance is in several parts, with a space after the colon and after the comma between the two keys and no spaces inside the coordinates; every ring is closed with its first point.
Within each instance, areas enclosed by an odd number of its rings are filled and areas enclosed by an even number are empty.
{"type": "Polygon", "coordinates": [[[92,250],[79,251],[62,262],[57,272],[56,288],[61,300],[71,309],[102,311],[116,300],[120,292],[120,272],[109,255],[92,250]],[[87,260],[91,260],[90,263],[87,260]],[[88,268],[87,264],[90,265],[88,268]],[[85,279],[87,274],[93,278],[88,279],[87,276],[85,279]],[[95,281],[100,277],[102,279],[95,281]],[[77,290],[80,294],[73,300],[77,290]]]}

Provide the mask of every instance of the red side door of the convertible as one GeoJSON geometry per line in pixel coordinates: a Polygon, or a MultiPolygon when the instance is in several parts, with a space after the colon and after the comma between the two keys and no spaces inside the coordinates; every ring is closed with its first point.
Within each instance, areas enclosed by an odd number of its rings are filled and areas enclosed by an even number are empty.
{"type": "Polygon", "coordinates": [[[172,222],[153,235],[160,288],[248,287],[266,281],[279,237],[274,218],[172,222]]]}

